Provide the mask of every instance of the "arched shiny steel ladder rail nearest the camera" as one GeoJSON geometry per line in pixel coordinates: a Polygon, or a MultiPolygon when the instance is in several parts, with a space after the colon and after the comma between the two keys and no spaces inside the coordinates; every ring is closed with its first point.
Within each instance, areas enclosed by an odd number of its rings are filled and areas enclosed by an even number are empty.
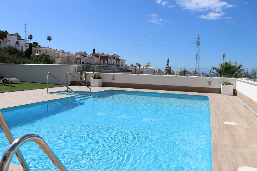
{"type": "Polygon", "coordinates": [[[0,170],[8,171],[11,159],[14,153],[19,150],[19,147],[27,142],[35,142],[37,145],[45,152],[48,158],[55,164],[55,166],[61,171],[68,171],[67,168],[62,164],[59,158],[55,155],[55,153],[51,150],[51,148],[47,145],[47,143],[36,134],[26,134],[19,138],[17,138],[5,151],[2,160],[0,162],[0,170]]]}

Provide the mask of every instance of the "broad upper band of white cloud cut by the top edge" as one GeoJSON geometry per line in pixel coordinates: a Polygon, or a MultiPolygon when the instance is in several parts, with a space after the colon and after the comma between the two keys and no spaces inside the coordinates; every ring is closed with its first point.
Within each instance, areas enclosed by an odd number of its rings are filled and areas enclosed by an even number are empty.
{"type": "Polygon", "coordinates": [[[192,11],[221,12],[224,8],[234,7],[234,5],[222,2],[220,0],[176,0],[177,4],[184,9],[192,11]]]}

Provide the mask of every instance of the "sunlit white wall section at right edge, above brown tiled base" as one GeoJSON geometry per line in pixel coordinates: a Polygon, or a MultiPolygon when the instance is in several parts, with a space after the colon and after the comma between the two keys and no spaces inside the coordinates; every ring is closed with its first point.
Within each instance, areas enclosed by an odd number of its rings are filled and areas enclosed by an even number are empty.
{"type": "Polygon", "coordinates": [[[257,101],[257,82],[236,79],[236,90],[257,101]]]}

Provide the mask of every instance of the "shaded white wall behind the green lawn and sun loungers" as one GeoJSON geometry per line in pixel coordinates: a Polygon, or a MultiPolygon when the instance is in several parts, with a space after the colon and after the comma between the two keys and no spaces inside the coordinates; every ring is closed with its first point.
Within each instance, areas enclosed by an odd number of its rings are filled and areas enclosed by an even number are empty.
{"type": "MultiPolygon", "coordinates": [[[[17,78],[24,82],[47,83],[47,72],[66,84],[66,73],[75,74],[75,65],[36,65],[36,64],[0,64],[0,76],[4,78],[17,78]]],[[[78,74],[77,74],[78,75],[78,74]]],[[[74,75],[75,76],[75,75],[74,75]]],[[[79,78],[79,75],[76,76],[79,78]]],[[[74,81],[68,76],[68,84],[74,81]]],[[[48,75],[49,84],[60,84],[52,76],[48,75]]]]}

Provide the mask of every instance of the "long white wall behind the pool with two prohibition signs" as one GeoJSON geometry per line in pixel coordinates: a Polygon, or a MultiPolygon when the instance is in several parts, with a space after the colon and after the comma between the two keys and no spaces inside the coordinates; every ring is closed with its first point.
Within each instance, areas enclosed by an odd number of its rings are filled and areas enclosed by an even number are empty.
{"type": "Polygon", "coordinates": [[[92,73],[87,72],[87,81],[90,82],[93,74],[101,75],[103,82],[130,83],[130,84],[153,84],[167,86],[187,86],[187,87],[210,87],[221,88],[224,81],[232,82],[236,89],[236,79],[234,78],[214,78],[214,77],[190,77],[190,76],[165,76],[146,74],[112,74],[112,73],[92,73]],[[112,80],[115,76],[115,81],[112,80]],[[211,85],[208,86],[208,82],[211,85]]]}

